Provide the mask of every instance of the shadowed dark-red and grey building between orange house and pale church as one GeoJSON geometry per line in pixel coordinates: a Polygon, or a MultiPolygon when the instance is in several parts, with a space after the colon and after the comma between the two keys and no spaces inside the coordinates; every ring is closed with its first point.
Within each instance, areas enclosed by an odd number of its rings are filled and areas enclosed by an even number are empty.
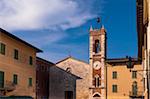
{"type": "Polygon", "coordinates": [[[37,99],[76,99],[76,80],[80,79],[54,63],[37,57],[37,99]]]}

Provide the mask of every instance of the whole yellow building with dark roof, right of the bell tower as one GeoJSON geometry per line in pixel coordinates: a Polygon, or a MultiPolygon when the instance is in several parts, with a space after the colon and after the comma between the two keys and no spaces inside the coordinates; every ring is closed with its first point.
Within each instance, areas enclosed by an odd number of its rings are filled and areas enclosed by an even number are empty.
{"type": "Polygon", "coordinates": [[[144,99],[143,67],[137,59],[128,65],[128,58],[106,60],[106,99],[144,99]]]}

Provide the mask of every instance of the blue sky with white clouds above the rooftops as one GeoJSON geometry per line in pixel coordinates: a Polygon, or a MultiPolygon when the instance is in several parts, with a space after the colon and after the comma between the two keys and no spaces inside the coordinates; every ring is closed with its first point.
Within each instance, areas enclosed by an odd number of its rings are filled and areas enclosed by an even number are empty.
{"type": "Polygon", "coordinates": [[[88,62],[91,25],[107,31],[107,58],[137,57],[136,0],[0,0],[0,12],[1,28],[51,62],[88,62]]]}

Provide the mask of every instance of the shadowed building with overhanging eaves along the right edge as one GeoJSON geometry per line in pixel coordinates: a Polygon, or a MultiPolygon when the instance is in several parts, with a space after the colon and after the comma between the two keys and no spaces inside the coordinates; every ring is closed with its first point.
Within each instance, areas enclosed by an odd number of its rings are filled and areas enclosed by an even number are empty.
{"type": "Polygon", "coordinates": [[[150,1],[136,0],[138,58],[143,65],[145,98],[150,98],[150,1]]]}

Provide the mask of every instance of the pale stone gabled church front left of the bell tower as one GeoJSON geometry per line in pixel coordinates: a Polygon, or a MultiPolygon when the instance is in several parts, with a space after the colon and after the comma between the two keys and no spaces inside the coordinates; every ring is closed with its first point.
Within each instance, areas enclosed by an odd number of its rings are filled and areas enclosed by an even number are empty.
{"type": "Polygon", "coordinates": [[[90,65],[73,57],[67,57],[56,65],[67,72],[81,77],[77,80],[76,99],[89,99],[89,68],[90,65]]]}

